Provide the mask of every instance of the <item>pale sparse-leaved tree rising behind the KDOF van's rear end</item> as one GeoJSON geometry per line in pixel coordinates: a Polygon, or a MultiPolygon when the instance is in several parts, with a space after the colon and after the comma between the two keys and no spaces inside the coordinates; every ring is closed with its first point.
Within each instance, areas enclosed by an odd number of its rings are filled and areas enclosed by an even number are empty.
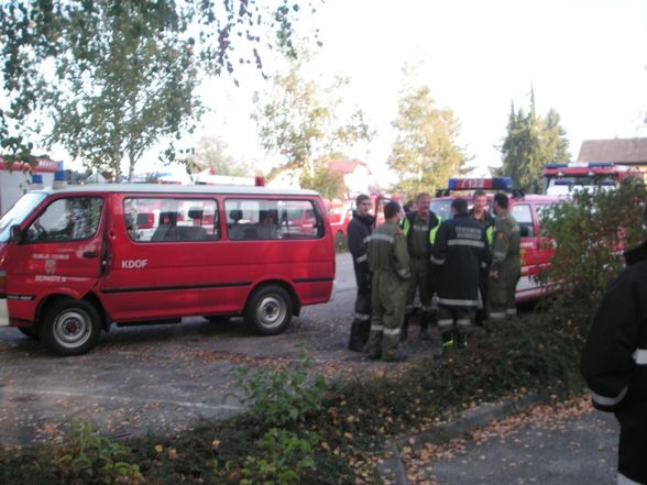
{"type": "MultiPolygon", "coordinates": [[[[330,157],[335,152],[360,141],[370,141],[373,133],[360,109],[343,113],[340,92],[348,78],[336,77],[329,87],[306,78],[307,53],[290,59],[285,73],[272,78],[272,86],[254,93],[256,123],[263,148],[278,153],[285,162],[268,175],[273,178],[282,170],[305,173],[305,181],[314,180],[316,161],[330,157]]],[[[316,188],[316,187],[309,187],[316,188]]]]}

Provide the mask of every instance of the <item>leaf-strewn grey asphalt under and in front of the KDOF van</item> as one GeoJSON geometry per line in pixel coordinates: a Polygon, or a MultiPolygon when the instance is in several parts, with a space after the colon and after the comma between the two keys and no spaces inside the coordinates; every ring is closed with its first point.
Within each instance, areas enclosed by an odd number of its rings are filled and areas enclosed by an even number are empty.
{"type": "MultiPolygon", "coordinates": [[[[73,419],[109,436],[179,430],[200,417],[240,411],[230,371],[279,368],[299,360],[304,342],[325,376],[357,375],[386,364],[347,350],[355,295],[351,257],[337,257],[335,300],[306,307],[281,335],[256,337],[241,319],[113,328],[88,354],[57,357],[15,329],[0,329],[0,443],[58,439],[73,419]]],[[[438,341],[412,342],[418,355],[438,341]]]]}

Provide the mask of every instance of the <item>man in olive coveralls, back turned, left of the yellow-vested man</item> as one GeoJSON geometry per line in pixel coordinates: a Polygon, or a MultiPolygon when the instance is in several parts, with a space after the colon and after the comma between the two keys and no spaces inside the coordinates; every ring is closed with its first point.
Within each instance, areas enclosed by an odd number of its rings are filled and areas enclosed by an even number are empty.
{"type": "Polygon", "coordinates": [[[402,208],[391,201],[384,206],[385,222],[377,227],[369,243],[369,265],[373,273],[371,288],[371,337],[369,359],[404,361],[398,353],[399,332],[404,321],[405,295],[408,285],[409,255],[399,229],[402,208]]]}

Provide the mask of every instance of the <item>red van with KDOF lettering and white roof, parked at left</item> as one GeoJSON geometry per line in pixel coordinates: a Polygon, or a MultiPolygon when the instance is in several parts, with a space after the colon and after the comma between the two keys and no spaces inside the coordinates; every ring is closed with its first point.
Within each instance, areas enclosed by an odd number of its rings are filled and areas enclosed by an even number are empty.
{"type": "Polygon", "coordinates": [[[62,355],[113,322],[242,315],[279,333],[333,278],[311,190],[88,185],[30,191],[0,220],[0,326],[62,355]]]}

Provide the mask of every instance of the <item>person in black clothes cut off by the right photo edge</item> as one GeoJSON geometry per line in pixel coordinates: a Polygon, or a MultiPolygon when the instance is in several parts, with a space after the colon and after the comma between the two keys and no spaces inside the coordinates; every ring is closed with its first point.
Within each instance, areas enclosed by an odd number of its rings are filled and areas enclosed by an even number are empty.
{"type": "Polygon", "coordinates": [[[621,426],[617,483],[647,485],[647,241],[625,261],[593,318],[581,371],[593,406],[621,426]]]}

